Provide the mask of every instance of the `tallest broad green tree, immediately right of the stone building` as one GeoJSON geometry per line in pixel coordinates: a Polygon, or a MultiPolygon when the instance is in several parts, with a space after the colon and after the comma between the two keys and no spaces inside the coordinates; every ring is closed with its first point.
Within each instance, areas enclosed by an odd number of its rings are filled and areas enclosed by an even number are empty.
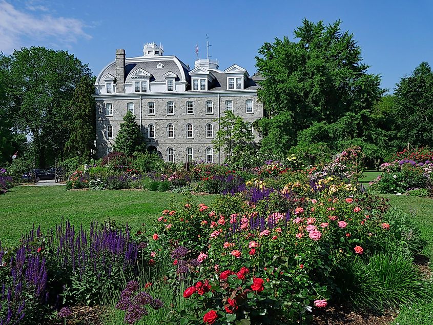
{"type": "Polygon", "coordinates": [[[284,155],[299,131],[368,111],[380,99],[380,76],[367,73],[361,48],[340,25],[304,19],[294,32],[298,42],[284,36],[259,49],[256,66],[264,80],[258,97],[267,113],[257,123],[262,151],[284,155]]]}

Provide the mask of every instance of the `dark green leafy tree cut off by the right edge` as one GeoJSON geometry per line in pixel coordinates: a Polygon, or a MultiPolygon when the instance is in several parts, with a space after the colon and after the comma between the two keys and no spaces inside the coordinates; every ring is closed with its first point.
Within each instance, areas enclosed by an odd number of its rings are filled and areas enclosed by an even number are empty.
{"type": "Polygon", "coordinates": [[[399,149],[433,147],[433,72],[423,62],[401,78],[395,90],[395,131],[399,149]]]}

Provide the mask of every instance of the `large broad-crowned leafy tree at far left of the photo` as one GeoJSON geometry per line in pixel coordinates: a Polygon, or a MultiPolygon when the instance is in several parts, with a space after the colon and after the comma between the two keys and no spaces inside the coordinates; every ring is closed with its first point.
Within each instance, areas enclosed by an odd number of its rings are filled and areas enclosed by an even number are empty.
{"type": "Polygon", "coordinates": [[[7,65],[5,92],[13,124],[32,137],[36,166],[52,164],[63,157],[70,137],[74,89],[91,71],[67,51],[45,47],[15,50],[2,63],[7,65]]]}

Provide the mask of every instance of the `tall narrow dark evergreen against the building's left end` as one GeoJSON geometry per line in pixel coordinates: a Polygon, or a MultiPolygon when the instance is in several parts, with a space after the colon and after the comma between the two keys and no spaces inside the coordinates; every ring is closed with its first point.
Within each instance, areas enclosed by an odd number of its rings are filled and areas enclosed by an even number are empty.
{"type": "Polygon", "coordinates": [[[70,137],[65,145],[65,152],[70,156],[81,153],[84,159],[89,157],[90,151],[94,149],[95,138],[95,98],[93,85],[94,78],[83,76],[74,91],[70,103],[70,111],[73,119],[70,125],[70,137]]]}

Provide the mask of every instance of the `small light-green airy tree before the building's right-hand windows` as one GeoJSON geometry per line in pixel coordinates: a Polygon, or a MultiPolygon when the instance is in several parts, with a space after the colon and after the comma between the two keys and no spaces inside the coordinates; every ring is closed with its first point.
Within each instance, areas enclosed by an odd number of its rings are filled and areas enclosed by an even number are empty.
{"type": "Polygon", "coordinates": [[[249,167],[254,157],[254,135],[248,123],[232,111],[225,111],[219,118],[220,128],[212,143],[216,152],[224,151],[228,155],[227,162],[235,162],[239,167],[249,167]]]}

